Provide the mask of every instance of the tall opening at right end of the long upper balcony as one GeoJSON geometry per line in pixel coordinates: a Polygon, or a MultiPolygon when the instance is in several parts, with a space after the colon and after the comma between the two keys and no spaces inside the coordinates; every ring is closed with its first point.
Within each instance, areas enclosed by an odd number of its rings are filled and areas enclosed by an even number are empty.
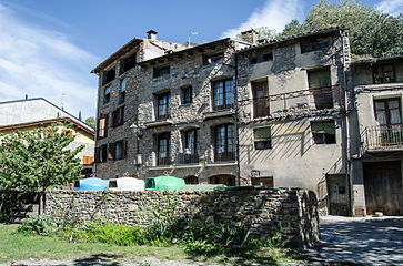
{"type": "Polygon", "coordinates": [[[316,109],[333,108],[330,69],[308,71],[310,91],[316,109]]]}

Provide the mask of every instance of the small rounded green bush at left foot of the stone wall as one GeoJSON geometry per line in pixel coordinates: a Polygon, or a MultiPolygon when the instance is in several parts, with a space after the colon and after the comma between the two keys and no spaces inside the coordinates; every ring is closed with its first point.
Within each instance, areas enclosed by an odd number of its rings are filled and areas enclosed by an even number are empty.
{"type": "Polygon", "coordinates": [[[26,219],[18,228],[19,233],[37,235],[53,235],[58,231],[58,225],[52,217],[37,216],[26,219]]]}

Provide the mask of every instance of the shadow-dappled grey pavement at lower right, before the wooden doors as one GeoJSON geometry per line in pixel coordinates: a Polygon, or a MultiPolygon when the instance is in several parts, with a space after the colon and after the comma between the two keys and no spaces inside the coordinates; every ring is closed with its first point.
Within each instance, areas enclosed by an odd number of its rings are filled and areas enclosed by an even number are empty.
{"type": "Polygon", "coordinates": [[[364,265],[403,265],[403,217],[324,216],[311,258],[364,265]]]}

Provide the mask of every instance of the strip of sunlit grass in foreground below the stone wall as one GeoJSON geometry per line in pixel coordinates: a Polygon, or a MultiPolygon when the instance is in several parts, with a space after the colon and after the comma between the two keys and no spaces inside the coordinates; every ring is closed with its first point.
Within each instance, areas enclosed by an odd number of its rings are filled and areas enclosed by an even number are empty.
{"type": "MultiPolygon", "coordinates": [[[[16,225],[0,224],[0,263],[12,260],[74,260],[78,264],[141,262],[145,257],[160,260],[202,262],[218,265],[286,265],[305,259],[275,248],[242,248],[212,256],[190,256],[183,247],[117,246],[102,243],[69,243],[68,241],[16,233],[16,225]]],[[[337,264],[329,264],[337,265],[337,264]]]]}

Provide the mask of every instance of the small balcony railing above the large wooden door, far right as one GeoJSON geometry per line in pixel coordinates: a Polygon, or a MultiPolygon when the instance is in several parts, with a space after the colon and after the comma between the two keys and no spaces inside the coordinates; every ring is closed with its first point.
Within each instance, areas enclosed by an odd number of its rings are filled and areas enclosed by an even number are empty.
{"type": "Polygon", "coordinates": [[[364,131],[366,150],[403,150],[403,125],[374,125],[364,131]]]}

